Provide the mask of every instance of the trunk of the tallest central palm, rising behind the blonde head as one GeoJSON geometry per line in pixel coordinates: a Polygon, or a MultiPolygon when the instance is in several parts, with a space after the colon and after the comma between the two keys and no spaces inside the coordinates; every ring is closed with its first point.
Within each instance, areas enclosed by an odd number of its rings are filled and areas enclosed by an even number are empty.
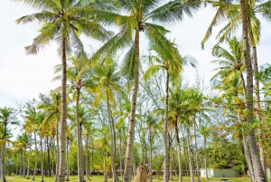
{"type": "Polygon", "coordinates": [[[131,101],[131,112],[128,127],[128,139],[126,145],[126,163],[124,172],[124,182],[131,181],[132,172],[132,150],[134,149],[135,139],[135,107],[138,91],[138,80],[139,80],[139,30],[135,30],[135,71],[134,71],[134,88],[131,101]]]}

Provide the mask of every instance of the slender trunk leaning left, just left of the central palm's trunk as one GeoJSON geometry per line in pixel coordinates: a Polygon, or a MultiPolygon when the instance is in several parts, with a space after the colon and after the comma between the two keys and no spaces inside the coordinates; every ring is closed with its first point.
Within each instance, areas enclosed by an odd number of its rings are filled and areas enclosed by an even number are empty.
{"type": "Polygon", "coordinates": [[[111,111],[110,111],[110,103],[109,103],[109,94],[108,94],[108,88],[107,89],[107,114],[108,114],[108,122],[109,122],[109,128],[110,128],[110,157],[111,157],[111,168],[112,168],[112,181],[117,182],[117,173],[116,173],[116,167],[115,167],[115,140],[114,140],[114,127],[113,127],[113,120],[111,117],[111,111]]]}

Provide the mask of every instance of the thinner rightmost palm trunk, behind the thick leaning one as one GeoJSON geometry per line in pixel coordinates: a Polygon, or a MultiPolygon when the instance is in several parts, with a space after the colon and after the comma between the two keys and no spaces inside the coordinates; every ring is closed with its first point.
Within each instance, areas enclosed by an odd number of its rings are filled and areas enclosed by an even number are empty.
{"type": "MultiPolygon", "coordinates": [[[[254,72],[255,72],[255,76],[254,76],[254,80],[255,80],[255,90],[256,90],[256,110],[257,110],[257,120],[262,123],[262,118],[261,118],[261,104],[260,104],[260,96],[259,96],[259,81],[258,81],[258,67],[257,67],[257,48],[256,45],[253,46],[253,65],[254,65],[254,72]]],[[[261,163],[262,163],[262,168],[264,169],[265,175],[267,174],[267,170],[266,170],[266,155],[264,153],[264,146],[262,144],[262,130],[261,128],[258,129],[258,134],[259,134],[259,147],[260,147],[260,159],[261,159],[261,163]]],[[[267,180],[267,176],[266,176],[266,180],[267,180]]]]}

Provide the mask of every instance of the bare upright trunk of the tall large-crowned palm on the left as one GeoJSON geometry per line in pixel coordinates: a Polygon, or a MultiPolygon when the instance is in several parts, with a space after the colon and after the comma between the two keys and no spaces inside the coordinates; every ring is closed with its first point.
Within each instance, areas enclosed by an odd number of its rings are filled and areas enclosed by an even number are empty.
{"type": "Polygon", "coordinates": [[[65,181],[65,158],[66,158],[66,128],[67,128],[67,63],[66,63],[66,39],[62,35],[62,80],[61,80],[61,154],[60,154],[60,182],[65,181]]]}

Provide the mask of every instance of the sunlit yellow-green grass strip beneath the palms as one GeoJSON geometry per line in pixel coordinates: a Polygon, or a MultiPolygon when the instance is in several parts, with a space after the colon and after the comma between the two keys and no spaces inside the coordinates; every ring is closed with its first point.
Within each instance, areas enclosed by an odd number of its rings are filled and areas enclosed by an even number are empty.
{"type": "MultiPolygon", "coordinates": [[[[248,177],[228,177],[228,178],[229,178],[229,182],[250,182],[248,177]]],[[[41,181],[40,176],[35,177],[35,179],[36,179],[36,181],[41,181]]],[[[44,177],[44,182],[53,182],[53,179],[54,179],[54,177],[44,177]]],[[[18,177],[18,176],[7,176],[6,180],[8,182],[9,181],[12,181],[12,182],[31,182],[32,181],[31,179],[25,179],[24,177],[18,177]]],[[[70,177],[70,182],[76,182],[76,181],[77,181],[77,176],[70,177]]],[[[90,181],[103,182],[103,177],[92,176],[91,180],[89,180],[89,182],[90,181]]],[[[111,182],[111,179],[108,179],[107,181],[111,182]]],[[[161,177],[161,179],[156,179],[154,177],[153,181],[154,182],[158,182],[158,181],[161,182],[163,180],[162,180],[162,177],[161,177]]],[[[177,179],[177,177],[174,177],[174,179],[171,181],[178,181],[178,179],[177,179]]],[[[195,178],[195,181],[197,181],[196,178],[195,178]]],[[[208,180],[206,180],[205,178],[201,178],[201,182],[207,182],[207,181],[208,180]]],[[[183,182],[190,182],[190,177],[183,177],[183,182]]],[[[209,182],[220,182],[220,177],[212,177],[212,178],[210,178],[209,182]]]]}

